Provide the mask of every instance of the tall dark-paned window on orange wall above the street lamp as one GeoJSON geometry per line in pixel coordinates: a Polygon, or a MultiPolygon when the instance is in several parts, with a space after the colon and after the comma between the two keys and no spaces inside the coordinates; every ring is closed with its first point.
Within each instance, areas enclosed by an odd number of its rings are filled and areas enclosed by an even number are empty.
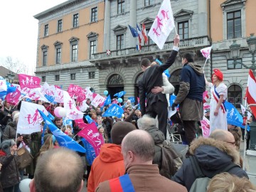
{"type": "Polygon", "coordinates": [[[240,38],[241,30],[241,11],[233,11],[227,14],[227,38],[240,38]]]}

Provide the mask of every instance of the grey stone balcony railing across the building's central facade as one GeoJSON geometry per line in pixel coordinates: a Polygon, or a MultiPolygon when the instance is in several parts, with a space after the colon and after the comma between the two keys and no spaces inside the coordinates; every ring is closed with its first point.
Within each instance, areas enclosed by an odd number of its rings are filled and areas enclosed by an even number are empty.
{"type": "MultiPolygon", "coordinates": [[[[203,46],[209,46],[210,41],[208,36],[202,36],[198,38],[188,38],[186,40],[182,40],[179,44],[179,47],[181,49],[183,48],[196,48],[196,47],[203,47],[203,46]]],[[[101,60],[101,59],[110,59],[110,58],[118,58],[118,57],[124,57],[129,55],[141,55],[146,53],[157,53],[157,52],[163,52],[166,50],[171,50],[171,48],[174,46],[173,41],[166,42],[164,44],[164,48],[162,50],[159,49],[156,44],[149,45],[149,46],[142,46],[142,50],[137,50],[136,48],[124,48],[121,50],[111,50],[110,55],[107,55],[106,52],[104,53],[95,53],[92,55],[91,60],[101,60]]]]}

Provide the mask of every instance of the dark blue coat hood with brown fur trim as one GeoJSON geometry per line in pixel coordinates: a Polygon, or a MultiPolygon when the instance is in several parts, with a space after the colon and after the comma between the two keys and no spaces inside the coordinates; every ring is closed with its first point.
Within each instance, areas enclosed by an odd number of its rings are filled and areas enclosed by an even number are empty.
{"type": "Polygon", "coordinates": [[[239,152],[215,139],[199,137],[191,143],[189,151],[205,170],[223,169],[231,161],[240,164],[239,152]]]}

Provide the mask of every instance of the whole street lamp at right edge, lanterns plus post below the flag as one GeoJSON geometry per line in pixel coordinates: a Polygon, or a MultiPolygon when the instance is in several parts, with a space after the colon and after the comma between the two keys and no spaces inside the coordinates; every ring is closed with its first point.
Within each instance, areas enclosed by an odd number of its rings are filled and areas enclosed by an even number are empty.
{"type": "MultiPolygon", "coordinates": [[[[252,65],[247,66],[244,63],[238,62],[238,57],[240,55],[240,45],[233,41],[230,46],[231,55],[234,59],[234,64],[241,64],[243,67],[252,70],[253,74],[256,76],[256,65],[255,65],[255,51],[256,51],[256,36],[254,33],[250,34],[250,38],[247,39],[247,44],[252,54],[252,65]]],[[[246,131],[245,131],[246,132],[246,131]]],[[[250,150],[256,150],[256,119],[252,115],[252,122],[250,123],[250,150]]]]}

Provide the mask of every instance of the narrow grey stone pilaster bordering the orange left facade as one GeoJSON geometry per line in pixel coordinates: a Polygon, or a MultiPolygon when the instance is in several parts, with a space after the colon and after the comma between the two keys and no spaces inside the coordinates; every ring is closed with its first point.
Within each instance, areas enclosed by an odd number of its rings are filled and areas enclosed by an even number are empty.
{"type": "Polygon", "coordinates": [[[110,49],[110,0],[105,1],[103,52],[110,49]]]}

